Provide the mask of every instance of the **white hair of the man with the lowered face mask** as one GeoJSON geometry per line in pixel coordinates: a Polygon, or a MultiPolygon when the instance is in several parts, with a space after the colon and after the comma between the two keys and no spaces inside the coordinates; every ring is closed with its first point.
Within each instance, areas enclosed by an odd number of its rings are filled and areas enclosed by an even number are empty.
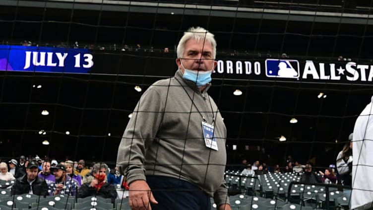
{"type": "Polygon", "coordinates": [[[214,38],[214,34],[208,32],[206,29],[202,27],[191,27],[186,32],[184,32],[183,37],[180,39],[178,47],[176,48],[176,53],[178,58],[183,58],[185,43],[189,39],[195,39],[197,42],[202,40],[203,42],[210,42],[212,46],[212,58],[215,59],[216,57],[216,41],[214,38]]]}

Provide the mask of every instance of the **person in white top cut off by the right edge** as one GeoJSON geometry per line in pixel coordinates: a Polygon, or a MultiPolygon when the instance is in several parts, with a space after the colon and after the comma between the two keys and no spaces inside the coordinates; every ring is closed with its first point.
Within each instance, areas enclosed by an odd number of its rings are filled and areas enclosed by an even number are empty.
{"type": "Polygon", "coordinates": [[[373,97],[359,115],[352,139],[351,209],[373,206],[373,97]]]}

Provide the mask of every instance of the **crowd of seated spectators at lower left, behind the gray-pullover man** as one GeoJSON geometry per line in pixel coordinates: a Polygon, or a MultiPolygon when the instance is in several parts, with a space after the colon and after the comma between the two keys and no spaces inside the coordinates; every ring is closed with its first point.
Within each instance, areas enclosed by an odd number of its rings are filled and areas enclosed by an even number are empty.
{"type": "Polygon", "coordinates": [[[42,160],[38,156],[28,160],[23,155],[19,161],[11,159],[7,163],[0,163],[0,180],[13,180],[12,195],[101,196],[114,202],[118,185],[128,189],[118,168],[110,170],[105,163],[92,163],[87,167],[84,160],[58,163],[57,160],[42,160]]]}

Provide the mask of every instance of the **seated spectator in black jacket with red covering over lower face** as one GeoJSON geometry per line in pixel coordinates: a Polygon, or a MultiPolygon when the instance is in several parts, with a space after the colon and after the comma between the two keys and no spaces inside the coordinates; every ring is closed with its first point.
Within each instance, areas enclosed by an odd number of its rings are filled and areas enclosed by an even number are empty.
{"type": "Polygon", "coordinates": [[[114,203],[117,191],[113,185],[105,182],[106,170],[108,170],[108,166],[105,163],[96,163],[92,169],[95,179],[92,182],[84,183],[79,188],[77,198],[100,196],[106,199],[110,198],[114,203]]]}

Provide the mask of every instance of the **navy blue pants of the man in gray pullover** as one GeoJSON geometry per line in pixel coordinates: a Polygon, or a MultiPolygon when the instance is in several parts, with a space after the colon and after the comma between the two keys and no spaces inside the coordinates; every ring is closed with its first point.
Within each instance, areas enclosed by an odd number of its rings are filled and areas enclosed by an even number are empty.
{"type": "Polygon", "coordinates": [[[146,176],[158,204],[152,210],[210,210],[210,198],[189,182],[165,176],[146,176]]]}

